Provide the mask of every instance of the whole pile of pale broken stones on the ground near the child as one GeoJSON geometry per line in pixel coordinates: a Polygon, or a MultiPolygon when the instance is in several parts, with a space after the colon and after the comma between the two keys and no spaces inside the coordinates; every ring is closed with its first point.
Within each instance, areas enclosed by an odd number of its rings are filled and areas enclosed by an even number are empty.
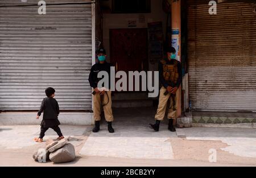
{"type": "Polygon", "coordinates": [[[53,163],[71,162],[76,158],[75,147],[69,139],[51,141],[46,148],[40,148],[33,154],[33,159],[42,163],[51,160],[53,163]]]}

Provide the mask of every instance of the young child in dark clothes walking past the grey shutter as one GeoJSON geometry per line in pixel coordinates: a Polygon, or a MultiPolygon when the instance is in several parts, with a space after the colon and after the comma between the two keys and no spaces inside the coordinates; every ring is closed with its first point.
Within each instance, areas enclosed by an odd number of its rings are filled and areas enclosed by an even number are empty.
{"type": "Polygon", "coordinates": [[[53,98],[55,96],[55,89],[49,87],[46,89],[46,98],[43,99],[42,105],[38,111],[38,115],[36,115],[36,119],[39,119],[42,112],[43,120],[41,122],[41,131],[39,138],[34,138],[35,142],[43,142],[44,133],[51,128],[59,135],[57,138],[61,140],[64,138],[63,134],[60,131],[60,121],[58,119],[58,115],[60,113],[59,104],[53,98]]]}

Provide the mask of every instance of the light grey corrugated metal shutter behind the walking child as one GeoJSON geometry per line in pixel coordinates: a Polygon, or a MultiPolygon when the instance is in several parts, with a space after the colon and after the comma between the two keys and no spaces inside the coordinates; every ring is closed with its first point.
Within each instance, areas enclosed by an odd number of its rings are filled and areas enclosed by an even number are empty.
{"type": "Polygon", "coordinates": [[[0,2],[0,110],[38,110],[48,86],[61,110],[91,109],[92,5],[38,2],[0,2]]]}

